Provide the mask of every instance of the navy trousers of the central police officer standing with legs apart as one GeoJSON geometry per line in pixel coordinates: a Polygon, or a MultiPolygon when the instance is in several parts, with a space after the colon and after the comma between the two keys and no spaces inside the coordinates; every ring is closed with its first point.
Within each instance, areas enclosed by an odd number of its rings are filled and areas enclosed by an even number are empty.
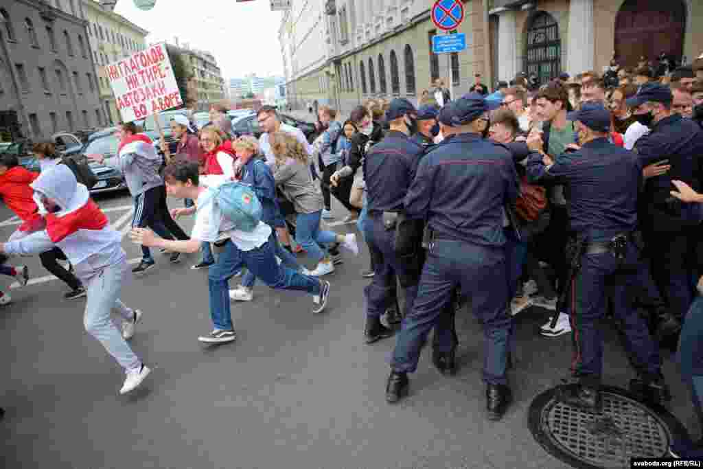
{"type": "Polygon", "coordinates": [[[510,342],[507,267],[503,248],[489,248],[457,240],[434,240],[423,266],[418,296],[397,334],[391,366],[413,373],[427,334],[451,302],[460,285],[471,298],[471,309],[484,330],[483,380],[507,384],[505,365],[510,342]]]}

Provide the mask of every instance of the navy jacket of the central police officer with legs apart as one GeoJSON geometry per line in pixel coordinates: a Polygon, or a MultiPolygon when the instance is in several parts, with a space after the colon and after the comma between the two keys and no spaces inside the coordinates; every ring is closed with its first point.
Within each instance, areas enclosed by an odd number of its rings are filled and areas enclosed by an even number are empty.
{"type": "Polygon", "coordinates": [[[508,150],[478,134],[446,137],[423,156],[405,199],[435,238],[500,247],[503,207],[514,205],[517,174],[508,150]]]}

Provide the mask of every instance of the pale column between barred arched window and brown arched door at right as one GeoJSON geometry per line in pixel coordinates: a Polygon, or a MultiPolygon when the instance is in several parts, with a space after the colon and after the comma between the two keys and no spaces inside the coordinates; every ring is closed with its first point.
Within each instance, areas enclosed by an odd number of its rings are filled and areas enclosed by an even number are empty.
{"type": "Polygon", "coordinates": [[[571,0],[566,68],[569,75],[593,70],[595,59],[593,30],[593,0],[571,0]]]}

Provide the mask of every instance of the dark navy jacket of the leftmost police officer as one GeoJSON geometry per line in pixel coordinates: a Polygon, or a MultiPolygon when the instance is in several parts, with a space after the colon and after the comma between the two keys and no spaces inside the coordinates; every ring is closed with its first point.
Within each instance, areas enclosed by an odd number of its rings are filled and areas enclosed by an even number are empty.
{"type": "Polygon", "coordinates": [[[415,179],[424,148],[399,131],[389,131],[366,154],[363,176],[368,210],[399,212],[415,179]]]}

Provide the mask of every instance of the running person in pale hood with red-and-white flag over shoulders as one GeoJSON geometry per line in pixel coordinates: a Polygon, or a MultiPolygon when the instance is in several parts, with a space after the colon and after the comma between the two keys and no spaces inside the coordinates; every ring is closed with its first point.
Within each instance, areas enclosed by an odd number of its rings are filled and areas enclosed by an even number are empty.
{"type": "Polygon", "coordinates": [[[141,385],[151,370],[126,342],[134,335],[142,313],[120,301],[122,285],[130,277],[127,254],[121,245],[122,233],[110,228],[108,217],[91,200],[88,188],[78,184],[65,165],[42,172],[32,183],[32,189],[39,214],[46,220],[46,229],[0,244],[0,251],[30,255],[58,246],[66,253],[86,285],[83,318],[86,331],[127,372],[120,389],[120,394],[127,394],[141,385]],[[112,308],[122,316],[122,333],[110,321],[112,308]]]}

